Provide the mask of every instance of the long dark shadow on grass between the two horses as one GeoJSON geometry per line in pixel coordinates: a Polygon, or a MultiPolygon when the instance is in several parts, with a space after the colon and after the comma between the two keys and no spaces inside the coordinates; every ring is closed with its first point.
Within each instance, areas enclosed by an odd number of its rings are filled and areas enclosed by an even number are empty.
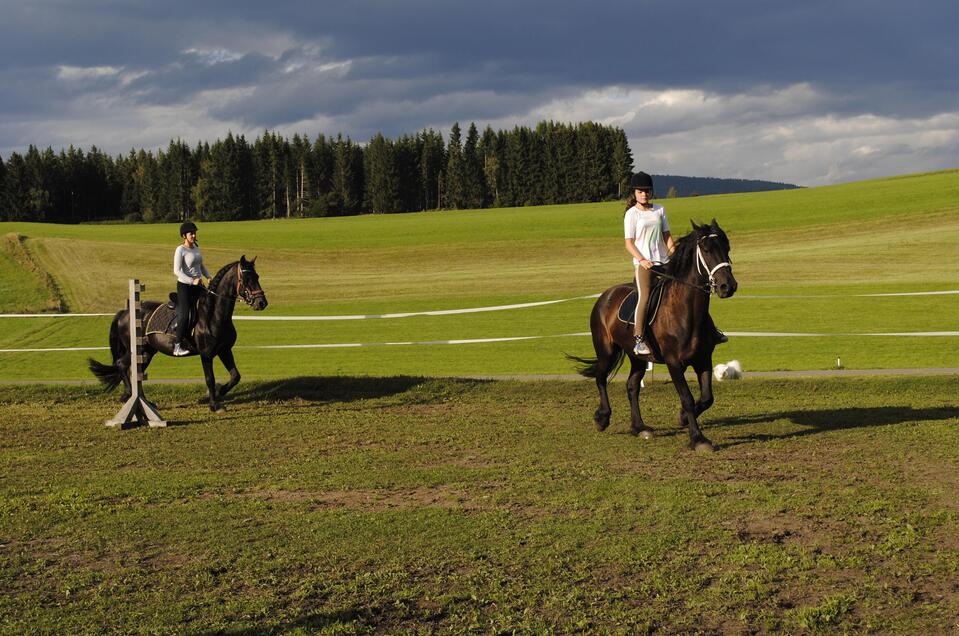
{"type": "MultiPolygon", "coordinates": [[[[360,400],[372,400],[393,397],[407,393],[413,388],[440,382],[437,391],[449,389],[459,392],[478,384],[487,384],[489,380],[463,380],[457,378],[429,378],[415,376],[390,377],[349,377],[349,376],[305,376],[252,382],[240,385],[227,395],[224,404],[244,404],[260,401],[303,400],[317,403],[346,403],[360,400]]],[[[439,395],[436,396],[438,399],[439,395]]],[[[428,398],[429,399],[429,398],[428,398]]]]}

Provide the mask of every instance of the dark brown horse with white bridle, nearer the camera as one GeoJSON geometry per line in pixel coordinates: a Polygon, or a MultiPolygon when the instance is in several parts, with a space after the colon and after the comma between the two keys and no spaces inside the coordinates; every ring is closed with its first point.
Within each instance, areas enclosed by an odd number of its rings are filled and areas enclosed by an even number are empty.
{"type": "Polygon", "coordinates": [[[632,411],[630,432],[643,439],[652,438],[653,429],[646,426],[639,411],[640,382],[647,362],[666,364],[679,393],[679,426],[688,428],[690,448],[712,451],[712,442],[703,435],[697,422],[703,411],[713,404],[711,372],[717,334],[709,317],[709,297],[715,292],[720,298],[729,298],[736,293],[737,283],[729,260],[729,239],[716,219],[709,225],[692,223],[692,227],[692,232],[676,242],[675,252],[659,273],[663,279],[659,282],[663,286],[660,305],[654,311],[651,302],[647,310],[647,314],[654,314],[644,337],[650,353],[633,353],[633,326],[618,317],[623,300],[636,289],[636,283],[632,282],[610,287],[593,305],[590,331],[596,357],[569,358],[582,363],[580,374],[596,379],[599,408],[593,421],[597,429],[604,431],[612,413],[606,384],[610,374],[622,365],[624,354],[629,356],[631,367],[626,393],[632,411]],[[694,401],[686,382],[685,372],[690,365],[699,379],[698,401],[694,401]]]}

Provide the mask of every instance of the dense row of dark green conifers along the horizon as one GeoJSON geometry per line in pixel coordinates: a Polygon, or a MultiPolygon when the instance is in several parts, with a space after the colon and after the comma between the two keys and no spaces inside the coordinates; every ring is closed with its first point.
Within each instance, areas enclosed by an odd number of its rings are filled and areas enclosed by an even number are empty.
{"type": "Polygon", "coordinates": [[[541,122],[448,140],[430,129],[365,146],[265,132],[112,157],[30,146],[0,158],[0,220],[80,223],[343,216],[509,207],[621,197],[633,167],[625,133],[541,122]]]}

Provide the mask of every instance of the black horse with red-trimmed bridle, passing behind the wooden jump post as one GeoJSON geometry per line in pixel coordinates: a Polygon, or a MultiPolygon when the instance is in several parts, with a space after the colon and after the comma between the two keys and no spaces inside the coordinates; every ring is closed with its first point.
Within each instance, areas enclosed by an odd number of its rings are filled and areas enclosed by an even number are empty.
{"type": "MultiPolygon", "coordinates": [[[[236,344],[233,309],[236,306],[236,300],[243,299],[254,311],[262,311],[267,306],[266,294],[260,287],[260,277],[256,273],[255,262],[256,257],[248,261],[246,256],[241,256],[239,261],[224,265],[210,281],[206,294],[197,302],[193,346],[190,347],[191,353],[187,357],[200,356],[203,375],[210,394],[210,410],[214,412],[225,410],[221,401],[240,381],[240,372],[237,371],[236,362],[233,359],[233,345],[236,344]],[[216,383],[213,376],[214,358],[220,358],[223,366],[230,372],[230,380],[226,384],[216,383]]],[[[158,310],[167,312],[170,318],[175,311],[164,303],[143,302],[143,324],[144,331],[147,332],[141,363],[141,369],[144,371],[157,352],[168,356],[173,355],[175,336],[171,330],[149,331],[146,328],[150,318],[158,310]]],[[[123,382],[125,391],[120,398],[121,402],[126,402],[132,393],[129,342],[130,312],[129,309],[123,309],[116,313],[110,324],[110,352],[113,355],[113,364],[102,364],[93,358],[87,360],[90,371],[105,385],[105,391],[112,391],[120,382],[123,382]]]]}

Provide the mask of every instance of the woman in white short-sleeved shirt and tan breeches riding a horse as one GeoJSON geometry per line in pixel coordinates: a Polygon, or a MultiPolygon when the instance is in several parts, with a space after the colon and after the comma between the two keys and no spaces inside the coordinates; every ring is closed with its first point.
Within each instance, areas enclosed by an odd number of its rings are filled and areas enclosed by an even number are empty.
{"type": "Polygon", "coordinates": [[[649,303],[651,285],[650,269],[665,263],[676,249],[676,242],[669,232],[666,211],[661,205],[650,203],[653,197],[653,178],[645,172],[637,172],[629,181],[630,195],[626,201],[623,229],[626,234],[626,251],[633,257],[633,272],[639,298],[636,299],[636,324],[633,335],[636,345],[633,353],[648,354],[649,347],[643,341],[646,326],[646,305],[649,303]]]}

